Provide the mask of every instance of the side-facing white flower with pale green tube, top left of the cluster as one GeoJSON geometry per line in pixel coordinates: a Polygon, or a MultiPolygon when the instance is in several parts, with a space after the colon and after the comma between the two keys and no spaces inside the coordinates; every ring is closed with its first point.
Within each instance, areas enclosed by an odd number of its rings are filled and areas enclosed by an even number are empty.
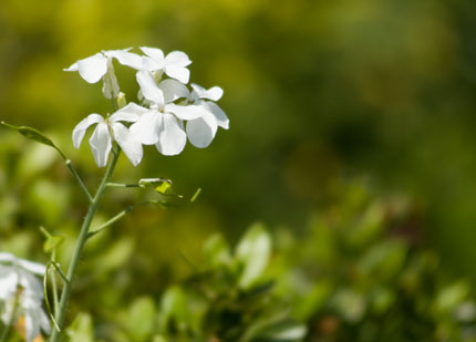
{"type": "Polygon", "coordinates": [[[108,50],[99,52],[92,56],[79,60],[64,71],[79,71],[81,77],[89,83],[96,83],[103,79],[103,94],[106,99],[114,99],[120,92],[117,79],[114,73],[113,58],[121,64],[134,69],[142,69],[142,56],[125,50],[108,50]]]}

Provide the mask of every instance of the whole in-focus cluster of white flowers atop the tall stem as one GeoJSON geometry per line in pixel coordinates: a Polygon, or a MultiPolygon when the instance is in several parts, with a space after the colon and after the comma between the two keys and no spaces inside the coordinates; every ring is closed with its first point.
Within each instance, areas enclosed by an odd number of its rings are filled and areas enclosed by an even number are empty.
{"type": "Polygon", "coordinates": [[[225,112],[215,103],[224,94],[219,86],[206,90],[195,83],[187,87],[192,63],[180,51],[164,55],[161,49],[141,48],[143,55],[131,49],[102,51],[80,60],[65,71],[77,71],[89,83],[103,80],[103,94],[115,99],[120,86],[113,60],[136,70],[141,87],[141,105],[130,103],[106,118],[91,114],[73,129],[73,144],[79,148],[86,129],[96,124],[90,145],[99,167],[107,164],[115,141],[136,166],[143,157],[142,145],[155,145],[163,155],[179,154],[188,141],[196,147],[207,147],[218,126],[229,127],[225,112]]]}

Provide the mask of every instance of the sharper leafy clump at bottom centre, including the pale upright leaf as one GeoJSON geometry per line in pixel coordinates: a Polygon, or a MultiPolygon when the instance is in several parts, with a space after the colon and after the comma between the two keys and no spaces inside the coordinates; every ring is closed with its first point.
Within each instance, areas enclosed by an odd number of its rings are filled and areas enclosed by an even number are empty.
{"type": "Polygon", "coordinates": [[[146,320],[157,322],[157,341],[302,341],[304,325],[291,319],[289,304],[272,292],[273,281],[263,278],[271,238],[261,225],[247,231],[232,255],[218,235],[204,249],[207,267],[163,293],[157,320],[151,299],[132,304],[125,318],[134,322],[125,325],[132,327],[131,340],[151,339],[151,325],[137,328],[146,320]]]}

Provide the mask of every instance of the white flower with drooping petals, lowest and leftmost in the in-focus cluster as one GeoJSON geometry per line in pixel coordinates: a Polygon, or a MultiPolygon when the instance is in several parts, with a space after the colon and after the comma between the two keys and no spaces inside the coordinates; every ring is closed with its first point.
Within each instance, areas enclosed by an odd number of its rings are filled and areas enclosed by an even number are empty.
{"type": "Polygon", "coordinates": [[[75,148],[80,148],[86,129],[91,125],[97,124],[90,138],[91,149],[93,151],[94,160],[97,166],[106,166],[113,139],[117,142],[131,163],[137,166],[143,156],[141,141],[131,134],[130,129],[121,122],[135,122],[146,112],[146,108],[135,103],[130,103],[106,117],[106,120],[100,114],[91,114],[74,127],[73,145],[75,148]]]}

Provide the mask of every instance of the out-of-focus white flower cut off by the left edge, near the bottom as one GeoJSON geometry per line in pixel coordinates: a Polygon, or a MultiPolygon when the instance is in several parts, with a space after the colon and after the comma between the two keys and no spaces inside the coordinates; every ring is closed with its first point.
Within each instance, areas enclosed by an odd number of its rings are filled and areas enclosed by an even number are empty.
{"type": "Polygon", "coordinates": [[[0,252],[0,319],[6,325],[24,317],[27,341],[33,341],[40,329],[50,332],[50,321],[42,309],[43,287],[34,277],[44,276],[45,267],[0,252]]]}

